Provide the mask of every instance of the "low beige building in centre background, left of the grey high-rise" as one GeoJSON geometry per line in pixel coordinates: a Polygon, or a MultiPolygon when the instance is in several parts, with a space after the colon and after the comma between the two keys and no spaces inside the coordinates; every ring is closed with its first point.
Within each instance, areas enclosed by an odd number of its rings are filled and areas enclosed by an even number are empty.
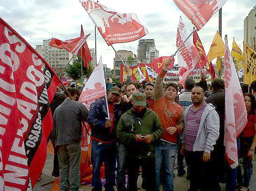
{"type": "MultiPolygon", "coordinates": [[[[136,58],[131,51],[118,50],[117,53],[120,55],[120,57],[125,62],[125,64],[129,67],[136,66],[141,62],[140,59],[136,58]]],[[[113,79],[120,79],[122,61],[117,55],[117,53],[115,53],[115,58],[114,58],[114,73],[112,75],[113,79]]]]}

